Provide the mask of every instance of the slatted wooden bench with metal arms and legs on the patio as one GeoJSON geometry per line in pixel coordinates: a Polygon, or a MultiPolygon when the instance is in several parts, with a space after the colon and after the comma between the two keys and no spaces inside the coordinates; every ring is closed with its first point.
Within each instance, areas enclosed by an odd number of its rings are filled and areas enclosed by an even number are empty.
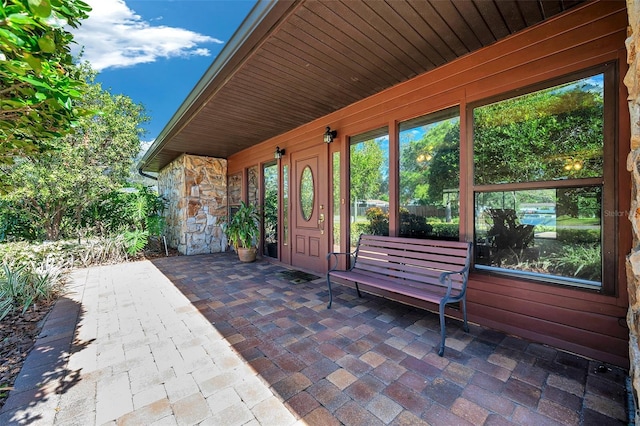
{"type": "Polygon", "coordinates": [[[435,303],[440,312],[438,355],[442,356],[446,337],[444,309],[447,304],[460,302],[464,330],[469,331],[466,289],[470,258],[471,243],[467,242],[361,235],[355,251],[327,254],[327,309],[333,302],[332,278],[354,282],[359,297],[362,297],[359,285],[363,284],[435,303]],[[337,269],[338,256],[347,256],[348,262],[350,258],[351,267],[337,269]]]}

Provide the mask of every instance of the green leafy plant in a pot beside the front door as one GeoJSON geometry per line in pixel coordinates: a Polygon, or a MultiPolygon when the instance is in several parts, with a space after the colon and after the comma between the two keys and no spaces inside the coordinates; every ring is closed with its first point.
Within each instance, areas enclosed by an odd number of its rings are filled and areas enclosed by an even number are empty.
{"type": "Polygon", "coordinates": [[[259,224],[258,208],[242,201],[238,210],[223,225],[229,245],[238,253],[241,262],[256,260],[256,242],[260,234],[259,224]]]}

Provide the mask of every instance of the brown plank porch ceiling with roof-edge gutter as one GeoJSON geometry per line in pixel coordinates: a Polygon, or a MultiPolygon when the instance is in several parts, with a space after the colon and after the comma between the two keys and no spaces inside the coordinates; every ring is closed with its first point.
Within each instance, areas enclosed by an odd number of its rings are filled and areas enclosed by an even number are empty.
{"type": "Polygon", "coordinates": [[[259,0],[139,164],[227,158],[583,0],[259,0]]]}

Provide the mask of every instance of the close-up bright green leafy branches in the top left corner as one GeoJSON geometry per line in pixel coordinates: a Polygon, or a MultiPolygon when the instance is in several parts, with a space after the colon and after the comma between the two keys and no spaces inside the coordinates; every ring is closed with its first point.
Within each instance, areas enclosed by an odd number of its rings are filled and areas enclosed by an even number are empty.
{"type": "Polygon", "coordinates": [[[86,88],[71,56],[72,34],[88,17],[80,0],[2,0],[0,164],[51,147],[69,132],[86,88]]]}

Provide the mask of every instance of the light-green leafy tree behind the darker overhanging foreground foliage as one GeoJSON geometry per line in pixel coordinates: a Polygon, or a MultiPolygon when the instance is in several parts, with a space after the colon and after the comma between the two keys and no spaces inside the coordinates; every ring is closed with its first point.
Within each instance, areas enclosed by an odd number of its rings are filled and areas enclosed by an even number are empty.
{"type": "Polygon", "coordinates": [[[55,150],[5,167],[13,182],[5,199],[27,212],[49,240],[61,237],[65,223],[78,229],[92,203],[121,187],[140,150],[140,125],[147,119],[143,107],[103,90],[93,77],[80,105],[98,113],[82,117],[74,133],[55,141],[55,150]]]}

